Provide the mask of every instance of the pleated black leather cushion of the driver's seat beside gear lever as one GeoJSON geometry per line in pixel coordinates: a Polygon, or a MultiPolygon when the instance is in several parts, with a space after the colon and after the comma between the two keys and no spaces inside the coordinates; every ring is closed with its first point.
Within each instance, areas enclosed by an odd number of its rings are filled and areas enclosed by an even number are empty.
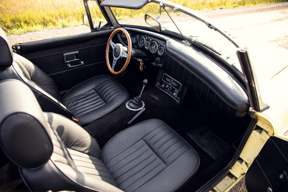
{"type": "Polygon", "coordinates": [[[62,104],[83,125],[112,112],[128,97],[128,92],[113,77],[100,75],[73,87],[62,97],[62,104]]]}

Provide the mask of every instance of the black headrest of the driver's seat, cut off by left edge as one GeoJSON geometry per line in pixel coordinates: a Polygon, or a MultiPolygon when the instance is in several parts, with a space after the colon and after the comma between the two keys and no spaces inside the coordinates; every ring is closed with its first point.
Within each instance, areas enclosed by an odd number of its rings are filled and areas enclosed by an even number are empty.
{"type": "Polygon", "coordinates": [[[0,50],[1,50],[1,59],[0,59],[0,69],[7,68],[12,65],[13,62],[13,51],[11,44],[7,38],[7,35],[0,27],[0,50]]]}

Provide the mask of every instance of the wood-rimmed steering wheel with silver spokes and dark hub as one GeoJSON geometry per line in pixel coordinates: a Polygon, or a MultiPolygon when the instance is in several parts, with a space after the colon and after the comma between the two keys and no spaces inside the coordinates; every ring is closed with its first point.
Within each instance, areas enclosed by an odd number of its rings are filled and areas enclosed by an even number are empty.
{"type": "Polygon", "coordinates": [[[123,73],[125,71],[125,69],[127,68],[128,64],[130,63],[131,56],[132,56],[131,37],[130,37],[129,33],[126,31],[126,29],[117,28],[111,33],[111,35],[110,35],[110,37],[108,39],[107,45],[106,45],[106,54],[105,54],[105,56],[106,56],[107,67],[108,67],[108,69],[109,69],[109,71],[111,73],[113,73],[114,75],[118,75],[118,74],[121,74],[121,73],[123,73]],[[124,47],[120,43],[116,43],[115,44],[115,43],[112,42],[112,37],[114,37],[114,35],[118,31],[122,31],[126,35],[127,42],[128,42],[128,49],[127,49],[127,47],[124,47]],[[109,46],[111,46],[113,48],[113,51],[112,51],[112,54],[113,54],[112,67],[111,67],[110,62],[109,62],[109,46]],[[124,50],[126,50],[127,53],[124,50]],[[120,59],[121,57],[124,57],[124,58],[126,57],[126,62],[124,64],[124,66],[122,67],[122,69],[120,69],[120,71],[114,71],[115,64],[116,64],[117,60],[120,59]]]}

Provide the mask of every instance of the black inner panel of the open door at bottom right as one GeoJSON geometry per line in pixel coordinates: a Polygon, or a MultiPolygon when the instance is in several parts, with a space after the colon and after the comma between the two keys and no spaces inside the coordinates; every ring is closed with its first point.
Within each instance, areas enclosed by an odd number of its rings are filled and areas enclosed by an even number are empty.
{"type": "Polygon", "coordinates": [[[247,190],[288,191],[287,159],[288,136],[270,137],[245,176],[247,190]]]}

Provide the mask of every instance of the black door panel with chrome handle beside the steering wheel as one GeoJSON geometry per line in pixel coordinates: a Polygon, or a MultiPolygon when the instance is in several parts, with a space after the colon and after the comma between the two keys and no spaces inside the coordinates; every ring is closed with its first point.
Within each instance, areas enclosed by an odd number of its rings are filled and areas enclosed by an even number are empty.
{"type": "Polygon", "coordinates": [[[22,43],[20,51],[22,56],[49,75],[61,92],[97,75],[110,75],[105,49],[112,31],[95,31],[22,43]],[[64,54],[76,51],[79,52],[79,60],[64,62],[64,54]],[[79,66],[68,68],[67,64],[79,66]]]}

